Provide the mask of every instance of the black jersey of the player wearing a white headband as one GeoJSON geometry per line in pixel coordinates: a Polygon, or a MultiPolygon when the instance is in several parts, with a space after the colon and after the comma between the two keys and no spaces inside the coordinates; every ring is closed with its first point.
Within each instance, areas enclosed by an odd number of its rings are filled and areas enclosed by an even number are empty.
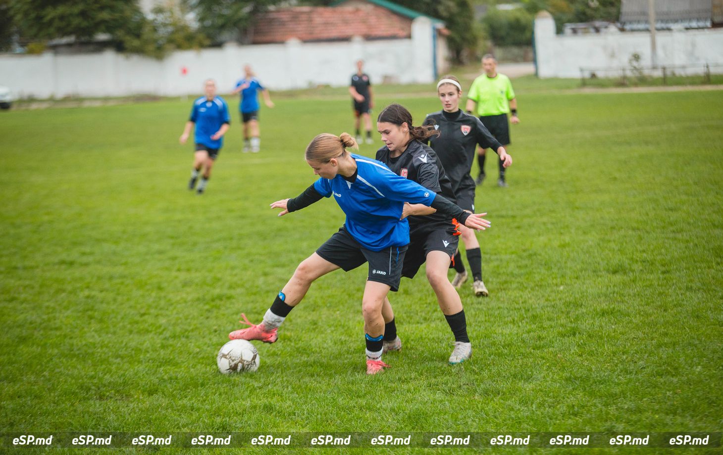
{"type": "Polygon", "coordinates": [[[435,129],[440,131],[439,136],[429,138],[429,145],[442,162],[455,194],[458,194],[461,187],[474,188],[474,178],[469,172],[477,144],[480,147],[492,148],[495,153],[499,147],[502,147],[479,118],[462,110],[453,113],[440,110],[427,114],[423,124],[434,125],[435,129]]]}

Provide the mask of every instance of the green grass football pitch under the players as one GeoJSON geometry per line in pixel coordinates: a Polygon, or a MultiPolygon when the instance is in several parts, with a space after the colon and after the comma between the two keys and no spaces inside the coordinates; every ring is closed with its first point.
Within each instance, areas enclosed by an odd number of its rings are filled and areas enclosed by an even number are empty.
{"type": "MultiPolygon", "coordinates": [[[[0,433],[722,431],[723,91],[518,100],[510,187],[488,162],[476,196],[491,295],[461,290],[473,358],[447,365],[422,273],[390,297],[404,348],[375,377],[364,268],[318,280],[257,373],[215,365],[241,311],[260,320],[343,223],[327,199],[268,204],[312,183],[304,147],[351,131],[348,100],[262,110],[258,155],[234,112],[204,196],[178,144],[190,100],[0,113],[0,433]]],[[[439,109],[401,102],[418,123],[439,109]]]]}

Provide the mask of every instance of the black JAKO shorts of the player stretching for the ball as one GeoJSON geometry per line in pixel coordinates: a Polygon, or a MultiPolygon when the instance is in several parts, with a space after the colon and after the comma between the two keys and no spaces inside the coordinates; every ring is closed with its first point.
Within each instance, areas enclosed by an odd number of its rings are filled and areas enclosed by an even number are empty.
{"type": "Polygon", "coordinates": [[[367,280],[389,285],[396,292],[399,290],[406,250],[406,245],[392,246],[382,251],[367,250],[359,245],[359,242],[342,226],[337,233],[334,233],[317,249],[316,253],[322,259],[338,265],[345,272],[356,269],[364,262],[369,262],[367,280]]]}

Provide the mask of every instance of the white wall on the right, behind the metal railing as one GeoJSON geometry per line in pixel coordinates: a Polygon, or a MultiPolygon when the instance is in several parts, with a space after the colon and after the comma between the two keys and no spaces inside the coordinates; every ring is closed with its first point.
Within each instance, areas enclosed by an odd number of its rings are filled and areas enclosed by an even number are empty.
{"type": "MultiPolygon", "coordinates": [[[[555,21],[547,12],[537,15],[534,26],[539,77],[580,77],[581,68],[630,68],[633,53],[641,56],[641,66],[651,66],[649,32],[611,29],[599,34],[556,35],[555,21]]],[[[696,66],[675,71],[701,74],[707,63],[711,72],[723,73],[723,29],[659,30],[655,36],[659,66],[696,66]]],[[[604,70],[597,74],[612,76],[604,70]]]]}

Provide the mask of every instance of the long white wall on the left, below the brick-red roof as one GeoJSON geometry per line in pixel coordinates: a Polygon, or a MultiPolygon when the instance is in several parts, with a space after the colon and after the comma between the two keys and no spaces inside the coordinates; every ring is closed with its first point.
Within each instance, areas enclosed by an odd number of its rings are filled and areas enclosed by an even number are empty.
{"type": "MultiPolygon", "coordinates": [[[[439,46],[438,46],[439,47],[439,46]]],[[[446,52],[445,48],[438,49],[446,52]]],[[[432,83],[435,80],[432,25],[424,17],[412,23],[408,40],[354,38],[338,43],[225,45],[202,51],[178,51],[162,61],[114,51],[40,56],[0,54],[0,85],[21,98],[196,95],[202,82],[216,79],[220,92],[233,89],[251,64],[270,90],[345,86],[363,58],[372,84],[382,80],[432,83]],[[181,68],[187,74],[181,74],[181,68]]]]}

